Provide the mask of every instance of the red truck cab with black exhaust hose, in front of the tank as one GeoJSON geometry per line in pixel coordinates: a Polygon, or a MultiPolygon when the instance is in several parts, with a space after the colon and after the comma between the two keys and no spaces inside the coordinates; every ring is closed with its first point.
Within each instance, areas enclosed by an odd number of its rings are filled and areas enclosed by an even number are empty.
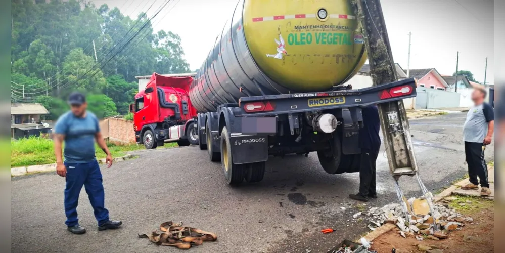
{"type": "Polygon", "coordinates": [[[198,144],[197,111],[188,95],[192,82],[191,76],[151,76],[146,89],[139,91],[130,105],[137,143],[147,149],[165,142],[198,144]]]}

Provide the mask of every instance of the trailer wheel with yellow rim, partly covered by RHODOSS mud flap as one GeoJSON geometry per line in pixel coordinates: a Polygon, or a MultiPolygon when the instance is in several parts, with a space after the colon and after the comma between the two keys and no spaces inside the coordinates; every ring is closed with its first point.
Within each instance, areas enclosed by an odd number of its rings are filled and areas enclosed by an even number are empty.
{"type": "Polygon", "coordinates": [[[224,178],[229,185],[237,185],[244,181],[246,164],[234,164],[232,161],[232,146],[230,145],[228,130],[224,126],[221,132],[221,166],[224,178]]]}

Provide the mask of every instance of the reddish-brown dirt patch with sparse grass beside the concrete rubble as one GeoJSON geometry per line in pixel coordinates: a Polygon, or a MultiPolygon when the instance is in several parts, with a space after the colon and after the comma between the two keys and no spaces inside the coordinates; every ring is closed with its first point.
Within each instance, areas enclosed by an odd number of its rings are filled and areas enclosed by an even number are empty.
{"type": "Polygon", "coordinates": [[[481,198],[458,197],[453,201],[446,201],[457,212],[471,217],[473,222],[464,222],[461,230],[453,231],[449,238],[432,240],[424,238],[418,241],[414,236],[403,238],[398,231],[390,231],[379,236],[373,241],[373,248],[377,252],[391,252],[393,248],[397,253],[424,252],[423,246],[440,249],[444,253],[465,252],[494,252],[494,208],[493,201],[481,198]],[[461,206],[461,203],[465,203],[461,206]],[[421,247],[418,245],[421,244],[421,247]]]}

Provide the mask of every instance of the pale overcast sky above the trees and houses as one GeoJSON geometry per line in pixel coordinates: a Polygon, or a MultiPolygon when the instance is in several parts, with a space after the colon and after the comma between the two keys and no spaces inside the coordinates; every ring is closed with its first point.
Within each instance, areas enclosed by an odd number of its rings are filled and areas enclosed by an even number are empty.
{"type": "MultiPolygon", "coordinates": [[[[118,7],[130,17],[141,11],[154,15],[165,0],[91,0],[97,7],[118,7]]],[[[272,0],[273,1],[273,0],[272,0]]],[[[190,69],[200,68],[238,0],[170,0],[153,19],[154,29],[181,37],[183,57],[190,69]]],[[[492,0],[382,0],[382,10],[393,51],[393,59],[407,69],[408,33],[411,32],[410,69],[436,68],[441,74],[470,70],[477,81],[487,81],[493,71],[492,0]]],[[[150,73],[146,73],[148,75],[150,73]]]]}

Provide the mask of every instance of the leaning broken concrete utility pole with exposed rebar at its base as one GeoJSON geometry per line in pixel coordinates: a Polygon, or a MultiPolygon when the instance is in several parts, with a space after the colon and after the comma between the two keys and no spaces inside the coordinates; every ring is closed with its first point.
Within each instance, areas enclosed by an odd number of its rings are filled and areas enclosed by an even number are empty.
{"type": "MultiPolygon", "coordinates": [[[[351,0],[351,4],[357,20],[361,24],[362,31],[359,32],[364,35],[373,86],[397,81],[396,67],[380,0],[351,0]]],[[[380,104],[379,116],[389,169],[395,179],[396,193],[400,202],[403,202],[405,215],[408,217],[407,201],[398,185],[398,179],[402,175],[416,176],[433,214],[432,195],[418,175],[414,146],[412,146],[410,139],[410,126],[403,101],[380,104]]]]}

